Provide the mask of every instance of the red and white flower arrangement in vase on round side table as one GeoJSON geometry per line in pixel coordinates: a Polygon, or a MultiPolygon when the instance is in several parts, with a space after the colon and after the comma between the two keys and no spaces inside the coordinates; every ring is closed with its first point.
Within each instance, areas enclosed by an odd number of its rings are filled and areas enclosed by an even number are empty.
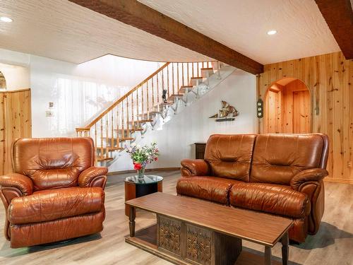
{"type": "Polygon", "coordinates": [[[138,170],[139,178],[143,178],[146,165],[157,161],[159,155],[157,143],[155,142],[145,146],[132,143],[131,146],[126,147],[126,153],[130,154],[133,160],[133,168],[138,170]]]}

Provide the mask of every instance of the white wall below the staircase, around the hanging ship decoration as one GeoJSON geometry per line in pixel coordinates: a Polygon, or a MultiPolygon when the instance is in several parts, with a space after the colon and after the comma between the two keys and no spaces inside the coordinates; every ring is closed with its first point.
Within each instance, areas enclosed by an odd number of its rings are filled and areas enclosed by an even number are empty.
{"type": "MultiPolygon", "coordinates": [[[[160,159],[148,167],[179,167],[183,158],[195,158],[193,143],[205,142],[211,134],[251,134],[256,131],[256,76],[237,70],[203,98],[175,115],[163,125],[162,131],[149,131],[137,143],[158,143],[160,159]],[[239,111],[234,122],[209,119],[220,109],[221,100],[239,111]]],[[[131,159],[126,153],[121,153],[109,167],[111,172],[131,169],[131,159]]]]}

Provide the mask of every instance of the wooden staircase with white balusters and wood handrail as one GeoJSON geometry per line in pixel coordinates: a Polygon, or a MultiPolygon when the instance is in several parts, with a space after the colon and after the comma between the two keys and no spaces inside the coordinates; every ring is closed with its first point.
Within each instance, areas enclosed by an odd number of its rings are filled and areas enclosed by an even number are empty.
{"type": "Polygon", "coordinates": [[[116,100],[77,136],[95,141],[96,163],[108,164],[128,143],[148,129],[162,129],[174,114],[217,86],[235,70],[219,61],[167,62],[116,100]],[[166,90],[165,100],[162,100],[166,90]]]}

